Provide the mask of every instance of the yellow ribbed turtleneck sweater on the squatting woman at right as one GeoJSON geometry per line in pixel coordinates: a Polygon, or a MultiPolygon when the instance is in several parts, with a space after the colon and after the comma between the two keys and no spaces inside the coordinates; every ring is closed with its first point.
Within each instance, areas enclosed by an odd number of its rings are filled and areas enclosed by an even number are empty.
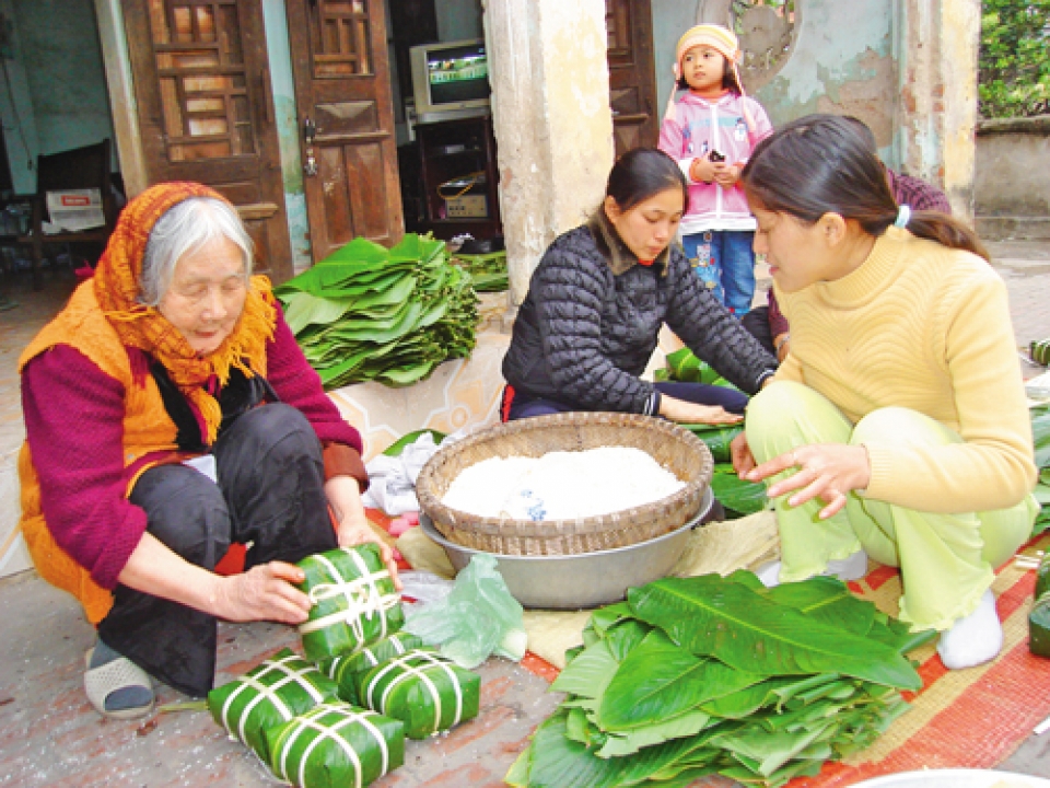
{"type": "Polygon", "coordinates": [[[1006,287],[980,257],[890,228],[842,279],[777,290],[805,383],[856,424],[877,408],[925,414],[964,443],[866,444],[866,496],[931,512],[1013,506],[1036,484],[1031,424],[1006,287]]]}

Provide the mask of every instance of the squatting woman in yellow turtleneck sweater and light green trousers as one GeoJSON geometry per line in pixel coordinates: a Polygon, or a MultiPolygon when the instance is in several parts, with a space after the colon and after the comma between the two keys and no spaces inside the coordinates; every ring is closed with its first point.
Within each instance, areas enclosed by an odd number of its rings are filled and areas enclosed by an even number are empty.
{"type": "Polygon", "coordinates": [[[747,408],[737,472],[766,479],[782,561],[768,584],[900,567],[900,617],[948,668],[993,659],[993,568],[1037,506],[1006,288],[980,241],[898,206],[849,121],[801,118],[744,170],[791,351],[747,408]]]}

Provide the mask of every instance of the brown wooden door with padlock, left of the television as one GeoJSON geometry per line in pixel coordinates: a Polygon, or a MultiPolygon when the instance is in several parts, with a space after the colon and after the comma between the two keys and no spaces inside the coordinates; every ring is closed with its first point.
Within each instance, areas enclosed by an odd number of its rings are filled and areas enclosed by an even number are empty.
{"type": "Polygon", "coordinates": [[[285,0],[314,262],[405,232],[383,0],[285,0]]]}

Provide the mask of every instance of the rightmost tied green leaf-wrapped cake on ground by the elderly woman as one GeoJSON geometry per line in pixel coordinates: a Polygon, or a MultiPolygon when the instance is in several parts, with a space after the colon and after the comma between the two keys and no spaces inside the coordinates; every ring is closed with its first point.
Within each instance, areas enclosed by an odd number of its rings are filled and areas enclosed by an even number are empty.
{"type": "Polygon", "coordinates": [[[416,649],[359,674],[362,705],[401,720],[405,735],[425,739],[478,716],[481,676],[447,657],[416,649]]]}

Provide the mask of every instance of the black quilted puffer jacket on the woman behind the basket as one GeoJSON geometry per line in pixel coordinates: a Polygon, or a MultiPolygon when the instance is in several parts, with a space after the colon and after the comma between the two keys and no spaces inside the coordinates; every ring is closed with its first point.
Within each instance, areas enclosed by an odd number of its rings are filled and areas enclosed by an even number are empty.
{"type": "Polygon", "coordinates": [[[664,322],[748,394],[777,369],[702,287],[677,245],[652,266],[639,265],[599,211],[544,254],[514,323],[503,376],[517,392],[581,410],[652,415],[658,397],[639,375],[664,322]]]}

